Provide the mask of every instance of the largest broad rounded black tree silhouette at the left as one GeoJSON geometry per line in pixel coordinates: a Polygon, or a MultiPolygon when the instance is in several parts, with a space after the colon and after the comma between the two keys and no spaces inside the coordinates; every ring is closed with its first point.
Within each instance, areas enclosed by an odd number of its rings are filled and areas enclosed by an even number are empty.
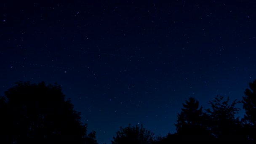
{"type": "Polygon", "coordinates": [[[16,82],[0,99],[0,143],[84,144],[87,125],[60,85],[16,82]]]}

